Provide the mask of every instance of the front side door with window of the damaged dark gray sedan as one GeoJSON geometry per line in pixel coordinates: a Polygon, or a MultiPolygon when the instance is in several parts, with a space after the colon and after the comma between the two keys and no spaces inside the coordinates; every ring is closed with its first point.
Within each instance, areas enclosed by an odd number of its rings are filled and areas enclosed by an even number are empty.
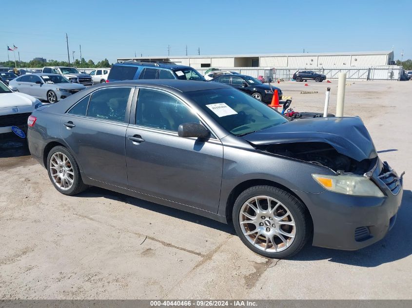
{"type": "Polygon", "coordinates": [[[126,132],[129,188],[217,213],[223,146],[215,137],[177,135],[180,124],[194,122],[199,118],[172,94],[139,90],[135,124],[126,132]]]}

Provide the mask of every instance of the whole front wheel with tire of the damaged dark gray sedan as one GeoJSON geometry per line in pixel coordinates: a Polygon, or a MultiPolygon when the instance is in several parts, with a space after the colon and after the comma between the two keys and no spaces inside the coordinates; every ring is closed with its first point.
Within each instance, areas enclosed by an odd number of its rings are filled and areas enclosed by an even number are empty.
{"type": "Polygon", "coordinates": [[[232,213],[237,236],[256,254],[286,258],[297,254],[309,239],[312,221],[302,201],[274,186],[243,191],[232,213]]]}

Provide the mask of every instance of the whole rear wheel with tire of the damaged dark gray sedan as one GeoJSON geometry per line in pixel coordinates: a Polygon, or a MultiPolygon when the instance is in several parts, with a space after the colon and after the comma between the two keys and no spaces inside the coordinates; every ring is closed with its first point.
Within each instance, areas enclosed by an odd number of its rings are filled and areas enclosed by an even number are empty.
{"type": "Polygon", "coordinates": [[[77,195],[87,188],[81,179],[78,163],[64,146],[50,150],[46,166],[50,181],[63,195],[77,195]]]}

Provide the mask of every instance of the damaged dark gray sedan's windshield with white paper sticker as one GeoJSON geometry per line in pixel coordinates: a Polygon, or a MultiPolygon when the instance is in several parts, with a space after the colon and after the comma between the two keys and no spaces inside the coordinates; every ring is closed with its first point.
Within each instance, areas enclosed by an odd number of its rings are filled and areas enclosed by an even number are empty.
{"type": "Polygon", "coordinates": [[[288,122],[274,109],[236,89],[192,91],[186,94],[235,136],[288,122]]]}

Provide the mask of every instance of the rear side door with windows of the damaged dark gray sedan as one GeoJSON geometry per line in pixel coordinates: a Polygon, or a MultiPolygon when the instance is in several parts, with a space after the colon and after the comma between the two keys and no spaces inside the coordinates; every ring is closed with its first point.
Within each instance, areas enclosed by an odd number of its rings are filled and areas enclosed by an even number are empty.
{"type": "Polygon", "coordinates": [[[60,134],[85,175],[127,187],[125,136],[134,88],[103,88],[68,110],[60,134]]]}

